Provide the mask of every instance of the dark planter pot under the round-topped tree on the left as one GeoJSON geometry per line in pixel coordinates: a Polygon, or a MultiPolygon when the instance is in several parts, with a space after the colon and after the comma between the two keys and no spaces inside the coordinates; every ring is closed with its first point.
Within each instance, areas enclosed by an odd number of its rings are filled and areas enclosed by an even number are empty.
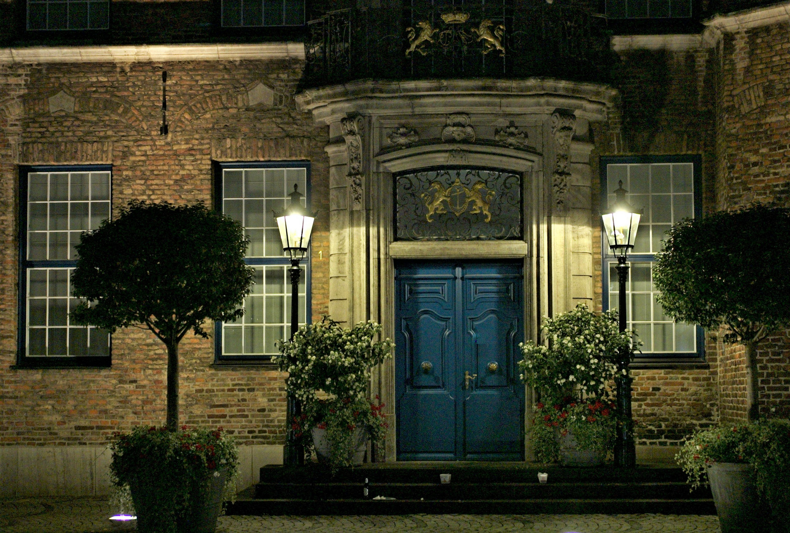
{"type": "Polygon", "coordinates": [[[214,533],[216,519],[222,511],[222,492],[228,479],[228,470],[209,471],[209,490],[192,490],[190,512],[176,516],[175,509],[169,512],[155,512],[160,509],[160,495],[164,493],[162,483],[130,486],[134,509],[137,512],[137,531],[162,531],[171,529],[175,523],[182,533],[214,533]]]}

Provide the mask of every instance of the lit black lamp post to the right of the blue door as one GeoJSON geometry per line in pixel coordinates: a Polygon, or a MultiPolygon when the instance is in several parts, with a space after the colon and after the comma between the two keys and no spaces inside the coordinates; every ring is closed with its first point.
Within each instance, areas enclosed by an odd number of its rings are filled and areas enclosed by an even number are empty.
{"type": "MultiPolygon", "coordinates": [[[[641,218],[641,211],[638,212],[626,201],[626,193],[628,191],[623,189],[623,182],[619,182],[619,188],[615,190],[617,195],[615,205],[611,206],[609,212],[602,216],[609,248],[617,257],[620,332],[626,330],[626,281],[628,280],[626,258],[628,250],[634,249],[641,218]]],[[[620,420],[617,423],[617,440],[615,441],[615,464],[619,467],[631,468],[636,466],[636,448],[634,446],[634,418],[631,415],[631,382],[634,380],[628,370],[629,363],[630,354],[626,351],[620,355],[618,373],[615,378],[617,410],[620,414],[620,420]]]]}

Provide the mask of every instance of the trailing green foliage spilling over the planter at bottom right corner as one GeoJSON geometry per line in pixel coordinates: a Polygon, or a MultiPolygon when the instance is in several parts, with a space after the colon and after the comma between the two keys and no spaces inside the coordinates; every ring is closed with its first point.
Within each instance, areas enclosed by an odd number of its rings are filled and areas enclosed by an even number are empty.
{"type": "Polygon", "coordinates": [[[708,484],[709,464],[751,464],[758,493],[768,501],[774,518],[784,524],[790,520],[790,420],[761,419],[697,431],[675,460],[689,476],[692,490],[708,484]]]}

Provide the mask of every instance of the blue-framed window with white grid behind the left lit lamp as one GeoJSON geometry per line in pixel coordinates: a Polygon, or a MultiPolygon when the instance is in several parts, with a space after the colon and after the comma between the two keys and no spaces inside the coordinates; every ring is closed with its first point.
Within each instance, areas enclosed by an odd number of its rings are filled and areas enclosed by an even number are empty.
{"type": "MultiPolygon", "coordinates": [[[[273,211],[280,212],[294,184],[310,205],[310,163],[215,163],[215,208],[244,227],[246,264],[255,269],[244,316],[215,324],[215,362],[269,362],[277,343],[291,336],[291,261],[283,252],[273,211]]],[[[310,322],[310,253],[299,265],[299,325],[310,322]]]]}

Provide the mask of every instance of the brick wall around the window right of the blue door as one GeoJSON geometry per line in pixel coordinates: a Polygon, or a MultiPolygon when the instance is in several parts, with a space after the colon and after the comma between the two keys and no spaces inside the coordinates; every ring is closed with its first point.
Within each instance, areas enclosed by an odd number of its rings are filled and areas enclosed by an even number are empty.
{"type": "MultiPolygon", "coordinates": [[[[702,154],[702,195],[713,208],[715,143],[713,56],[709,51],[628,50],[615,69],[613,85],[621,102],[608,123],[594,126],[594,156],[702,154]]],[[[593,169],[593,203],[600,214],[599,172],[593,169]]],[[[600,242],[600,223],[593,242],[600,242]]],[[[595,302],[601,308],[600,249],[593,247],[595,302]]],[[[678,365],[646,368],[632,375],[636,441],[639,445],[679,445],[693,430],[717,422],[717,352],[706,350],[708,368],[678,365]]]]}

